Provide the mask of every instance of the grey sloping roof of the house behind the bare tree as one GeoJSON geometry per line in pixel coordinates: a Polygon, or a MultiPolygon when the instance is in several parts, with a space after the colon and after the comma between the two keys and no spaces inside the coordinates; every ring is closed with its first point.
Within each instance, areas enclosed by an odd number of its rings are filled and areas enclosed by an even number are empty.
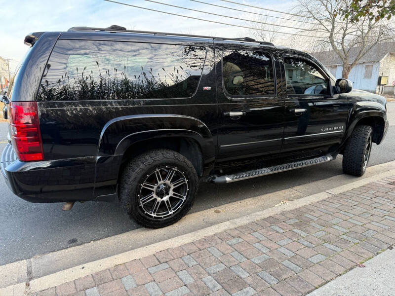
{"type": "MultiPolygon", "coordinates": [[[[358,51],[359,47],[351,48],[349,55],[350,63],[355,60],[358,51]]],[[[364,56],[358,61],[358,63],[379,62],[388,53],[395,53],[395,42],[382,42],[375,44],[372,49],[364,54],[364,56]]],[[[311,55],[314,56],[325,66],[343,64],[343,61],[335,53],[334,50],[312,52],[311,55]]]]}

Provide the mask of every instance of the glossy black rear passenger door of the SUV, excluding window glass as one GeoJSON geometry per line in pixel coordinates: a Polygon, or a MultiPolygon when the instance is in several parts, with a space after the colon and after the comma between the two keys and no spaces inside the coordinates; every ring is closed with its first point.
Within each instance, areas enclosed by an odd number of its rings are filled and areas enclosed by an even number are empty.
{"type": "Polygon", "coordinates": [[[274,46],[240,44],[235,41],[214,41],[216,50],[218,117],[217,164],[236,162],[237,159],[279,153],[284,124],[284,97],[281,92],[281,71],[274,46]],[[275,68],[276,90],[273,95],[235,97],[224,91],[222,52],[227,49],[262,51],[272,58],[275,68]],[[239,117],[226,116],[230,111],[244,111],[239,117]]]}

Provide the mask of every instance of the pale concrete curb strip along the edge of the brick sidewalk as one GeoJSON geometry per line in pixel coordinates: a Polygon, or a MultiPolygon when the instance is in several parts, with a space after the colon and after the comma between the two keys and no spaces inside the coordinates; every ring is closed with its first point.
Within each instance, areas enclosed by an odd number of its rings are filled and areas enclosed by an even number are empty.
{"type": "MultiPolygon", "coordinates": [[[[101,271],[107,268],[114,267],[119,264],[129,262],[133,259],[139,259],[152,255],[154,253],[166,250],[168,248],[174,248],[181,246],[186,243],[198,240],[205,236],[213,235],[218,232],[224,231],[229,228],[237,227],[240,225],[248,224],[269,216],[279,214],[283,211],[293,210],[310,203],[320,201],[327,197],[335,194],[339,194],[344,191],[366,185],[368,183],[384,179],[389,176],[395,175],[395,170],[390,170],[373,177],[368,177],[356,182],[352,182],[347,185],[338,186],[327,191],[322,191],[310,196],[302,197],[297,200],[289,201],[278,206],[259,211],[256,213],[248,214],[244,217],[233,219],[227,222],[221,222],[191,233],[183,234],[172,239],[167,239],[158,243],[154,243],[145,247],[137,248],[128,252],[124,252],[115,256],[111,256],[105,259],[99,259],[88,262],[86,264],[78,265],[72,268],[68,268],[59,272],[55,272],[40,278],[31,280],[28,283],[19,283],[0,289],[0,296],[17,296],[17,295],[29,295],[30,293],[36,293],[42,290],[46,290],[73,280],[80,277],[101,271]]],[[[264,195],[265,196],[265,195],[264,195]]],[[[10,263],[12,264],[12,263],[10,263]]],[[[0,266],[1,269],[1,266],[0,266]]]]}

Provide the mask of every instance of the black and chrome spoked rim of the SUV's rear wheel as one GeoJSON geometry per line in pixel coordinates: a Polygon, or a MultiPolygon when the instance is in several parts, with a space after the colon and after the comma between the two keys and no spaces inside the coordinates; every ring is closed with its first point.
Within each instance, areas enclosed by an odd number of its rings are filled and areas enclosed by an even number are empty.
{"type": "Polygon", "coordinates": [[[148,174],[137,196],[144,214],[155,219],[173,215],[187,199],[188,183],[177,167],[164,166],[148,174]]]}

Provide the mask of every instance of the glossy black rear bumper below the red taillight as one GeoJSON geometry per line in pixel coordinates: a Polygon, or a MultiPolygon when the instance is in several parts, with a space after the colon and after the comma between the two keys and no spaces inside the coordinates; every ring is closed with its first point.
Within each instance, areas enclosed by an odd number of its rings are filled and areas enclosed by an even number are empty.
{"type": "Polygon", "coordinates": [[[11,145],[1,153],[1,173],[11,191],[30,202],[92,200],[96,157],[23,162],[11,145]]]}

